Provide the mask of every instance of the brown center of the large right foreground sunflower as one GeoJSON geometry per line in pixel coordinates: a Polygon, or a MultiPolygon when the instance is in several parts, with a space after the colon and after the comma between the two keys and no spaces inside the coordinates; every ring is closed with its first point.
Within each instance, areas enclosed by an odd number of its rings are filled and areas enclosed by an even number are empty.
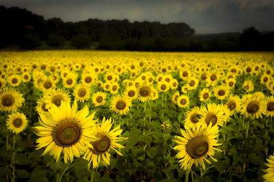
{"type": "Polygon", "coordinates": [[[208,136],[197,136],[188,140],[186,144],[186,153],[192,159],[198,159],[208,153],[208,136]]]}

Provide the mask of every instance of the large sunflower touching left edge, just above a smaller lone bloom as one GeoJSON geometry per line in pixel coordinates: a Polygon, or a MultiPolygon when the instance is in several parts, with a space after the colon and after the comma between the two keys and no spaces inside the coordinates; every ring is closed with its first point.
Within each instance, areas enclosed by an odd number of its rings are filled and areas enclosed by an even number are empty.
{"type": "Polygon", "coordinates": [[[5,87],[0,91],[0,110],[15,111],[25,102],[23,95],[12,88],[5,87]]]}

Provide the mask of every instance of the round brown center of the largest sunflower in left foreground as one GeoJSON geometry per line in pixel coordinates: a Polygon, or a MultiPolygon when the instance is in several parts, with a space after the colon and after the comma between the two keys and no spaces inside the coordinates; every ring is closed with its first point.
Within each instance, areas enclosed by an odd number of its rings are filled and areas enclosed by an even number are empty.
{"type": "Polygon", "coordinates": [[[82,128],[75,119],[64,119],[54,127],[51,134],[56,145],[69,147],[79,141],[82,128]]]}

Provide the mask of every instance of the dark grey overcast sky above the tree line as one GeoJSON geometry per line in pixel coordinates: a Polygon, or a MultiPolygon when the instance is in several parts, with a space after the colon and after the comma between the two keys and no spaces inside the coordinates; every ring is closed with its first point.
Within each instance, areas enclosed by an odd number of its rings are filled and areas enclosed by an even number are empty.
{"type": "Polygon", "coordinates": [[[0,0],[64,21],[125,19],[186,22],[196,33],[274,30],[274,0],[0,0]]]}

